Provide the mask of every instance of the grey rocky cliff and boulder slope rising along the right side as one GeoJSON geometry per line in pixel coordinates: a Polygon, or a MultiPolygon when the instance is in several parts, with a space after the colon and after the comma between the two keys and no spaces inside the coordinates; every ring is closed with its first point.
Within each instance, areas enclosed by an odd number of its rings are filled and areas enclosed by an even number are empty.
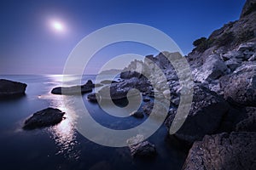
{"type": "MultiPolygon", "coordinates": [[[[208,38],[195,41],[195,49],[186,57],[195,82],[194,98],[186,121],[173,134],[187,144],[194,143],[184,169],[256,167],[255,144],[248,145],[256,140],[255,6],[256,0],[248,0],[239,20],[225,24],[208,38]]],[[[156,90],[170,88],[172,107],[166,119],[169,128],[177,113],[181,85],[163,54],[149,55],[146,59],[159,65],[167,79],[165,83],[160,76],[154,76],[152,82],[157,84],[156,90]]],[[[146,60],[131,63],[129,68],[134,71],[141,68],[143,72],[154,70],[146,60]]]]}

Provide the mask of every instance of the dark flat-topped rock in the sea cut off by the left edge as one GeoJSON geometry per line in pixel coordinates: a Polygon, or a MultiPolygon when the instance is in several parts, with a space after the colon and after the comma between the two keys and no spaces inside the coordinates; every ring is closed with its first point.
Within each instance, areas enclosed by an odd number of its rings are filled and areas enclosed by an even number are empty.
{"type": "Polygon", "coordinates": [[[26,84],[0,79],[0,98],[15,97],[25,94],[26,84]]]}

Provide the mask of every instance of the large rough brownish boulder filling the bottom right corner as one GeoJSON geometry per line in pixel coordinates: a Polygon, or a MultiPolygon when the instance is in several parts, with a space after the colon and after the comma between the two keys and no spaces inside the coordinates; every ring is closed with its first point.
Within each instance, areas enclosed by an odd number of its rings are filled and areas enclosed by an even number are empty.
{"type": "Polygon", "coordinates": [[[255,141],[256,133],[206,135],[193,144],[183,169],[256,169],[255,141]]]}

